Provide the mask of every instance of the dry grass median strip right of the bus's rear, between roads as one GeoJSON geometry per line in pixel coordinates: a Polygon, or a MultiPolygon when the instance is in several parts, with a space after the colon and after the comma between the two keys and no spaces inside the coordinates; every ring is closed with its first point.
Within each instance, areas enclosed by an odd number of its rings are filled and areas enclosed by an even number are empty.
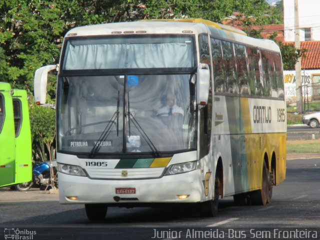
{"type": "Polygon", "coordinates": [[[320,139],[290,140],[286,142],[286,153],[317,153],[320,152],[320,139]]]}

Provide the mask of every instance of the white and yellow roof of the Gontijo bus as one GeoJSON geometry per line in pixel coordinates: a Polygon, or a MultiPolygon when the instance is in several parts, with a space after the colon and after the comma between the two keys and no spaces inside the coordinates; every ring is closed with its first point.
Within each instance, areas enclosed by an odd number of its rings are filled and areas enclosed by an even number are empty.
{"type": "Polygon", "coordinates": [[[246,36],[245,32],[234,27],[200,18],[153,19],[79,26],[69,30],[65,36],[200,34],[207,33],[208,31],[212,37],[279,52],[279,47],[274,41],[249,37],[246,36]]]}

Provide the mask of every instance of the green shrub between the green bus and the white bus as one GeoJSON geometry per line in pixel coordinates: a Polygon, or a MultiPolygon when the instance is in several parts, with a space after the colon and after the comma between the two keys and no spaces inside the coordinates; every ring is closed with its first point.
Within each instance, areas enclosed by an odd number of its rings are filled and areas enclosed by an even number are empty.
{"type": "Polygon", "coordinates": [[[41,161],[52,159],[52,144],[55,139],[55,110],[31,105],[30,125],[33,145],[33,159],[41,161]],[[44,148],[44,145],[46,149],[44,148]]]}

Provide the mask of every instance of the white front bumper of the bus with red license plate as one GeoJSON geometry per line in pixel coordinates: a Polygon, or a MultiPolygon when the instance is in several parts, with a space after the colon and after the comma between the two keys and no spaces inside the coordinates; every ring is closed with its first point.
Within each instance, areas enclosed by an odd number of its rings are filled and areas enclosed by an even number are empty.
{"type": "Polygon", "coordinates": [[[204,199],[200,169],[153,179],[103,180],[59,172],[59,201],[74,203],[179,203],[204,199]]]}

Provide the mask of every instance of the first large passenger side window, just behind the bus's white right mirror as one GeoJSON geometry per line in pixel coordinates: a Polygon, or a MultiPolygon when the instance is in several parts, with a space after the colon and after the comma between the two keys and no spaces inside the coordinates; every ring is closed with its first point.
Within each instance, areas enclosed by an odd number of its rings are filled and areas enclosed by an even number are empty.
{"type": "Polygon", "coordinates": [[[211,38],[211,53],[213,66],[213,82],[215,92],[226,91],[226,78],[222,57],[221,41],[211,38]]]}

